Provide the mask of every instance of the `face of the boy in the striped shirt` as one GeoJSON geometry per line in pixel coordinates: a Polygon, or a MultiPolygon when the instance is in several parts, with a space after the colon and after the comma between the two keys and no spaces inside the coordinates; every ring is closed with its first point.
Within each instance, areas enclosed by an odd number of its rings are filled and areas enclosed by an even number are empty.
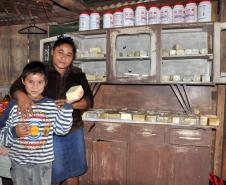
{"type": "Polygon", "coordinates": [[[22,80],[28,96],[32,100],[40,100],[42,98],[42,92],[46,86],[45,76],[40,73],[29,74],[22,80]]]}

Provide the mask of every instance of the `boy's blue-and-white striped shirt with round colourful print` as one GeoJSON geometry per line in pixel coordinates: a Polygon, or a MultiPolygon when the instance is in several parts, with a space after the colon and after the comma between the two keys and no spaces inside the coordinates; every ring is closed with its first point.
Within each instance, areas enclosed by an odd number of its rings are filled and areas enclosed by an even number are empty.
{"type": "Polygon", "coordinates": [[[5,127],[0,132],[0,141],[10,147],[9,158],[26,163],[47,163],[54,160],[53,133],[65,135],[72,126],[72,106],[64,104],[60,109],[49,98],[43,98],[32,106],[32,113],[24,117],[17,112],[17,105],[10,111],[5,127]],[[18,138],[15,126],[25,123],[30,134],[18,138]]]}

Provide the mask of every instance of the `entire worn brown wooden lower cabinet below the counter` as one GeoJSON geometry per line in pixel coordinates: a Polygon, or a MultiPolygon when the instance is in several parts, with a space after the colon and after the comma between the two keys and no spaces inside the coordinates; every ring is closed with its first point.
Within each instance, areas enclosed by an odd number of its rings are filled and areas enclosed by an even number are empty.
{"type": "Polygon", "coordinates": [[[81,184],[208,184],[214,130],[85,122],[89,170],[81,184]]]}

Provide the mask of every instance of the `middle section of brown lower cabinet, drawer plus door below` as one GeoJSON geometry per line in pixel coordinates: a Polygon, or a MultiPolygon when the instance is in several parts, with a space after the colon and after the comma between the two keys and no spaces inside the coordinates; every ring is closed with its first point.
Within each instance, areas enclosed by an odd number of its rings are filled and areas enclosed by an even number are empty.
{"type": "Polygon", "coordinates": [[[128,184],[167,184],[166,128],[160,125],[130,127],[128,184]]]}

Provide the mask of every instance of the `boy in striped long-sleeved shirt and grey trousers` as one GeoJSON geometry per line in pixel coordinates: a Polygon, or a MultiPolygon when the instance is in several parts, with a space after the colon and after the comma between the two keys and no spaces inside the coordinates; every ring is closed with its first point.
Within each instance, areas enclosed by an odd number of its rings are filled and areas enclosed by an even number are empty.
{"type": "Polygon", "coordinates": [[[53,133],[65,135],[69,132],[73,109],[67,103],[58,109],[54,100],[43,97],[47,73],[41,62],[27,64],[21,80],[34,102],[32,112],[22,116],[15,104],[0,132],[0,141],[10,147],[14,184],[51,185],[53,133]]]}

